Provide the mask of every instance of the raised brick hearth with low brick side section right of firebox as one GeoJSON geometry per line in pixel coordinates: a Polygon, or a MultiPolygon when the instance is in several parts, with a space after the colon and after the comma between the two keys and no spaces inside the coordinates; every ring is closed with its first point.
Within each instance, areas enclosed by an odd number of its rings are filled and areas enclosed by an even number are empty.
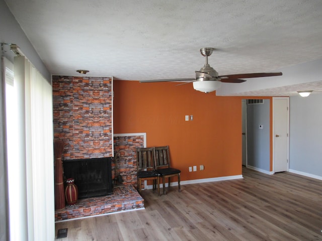
{"type": "MultiPolygon", "coordinates": [[[[102,197],[81,199],[73,207],[55,212],[55,221],[71,218],[101,215],[111,212],[144,208],[144,200],[137,193],[135,149],[146,144],[145,133],[115,134],[114,151],[120,153],[119,170],[123,186],[115,187],[113,194],[102,197]]],[[[115,164],[112,162],[112,178],[115,177],[115,164]]]]}

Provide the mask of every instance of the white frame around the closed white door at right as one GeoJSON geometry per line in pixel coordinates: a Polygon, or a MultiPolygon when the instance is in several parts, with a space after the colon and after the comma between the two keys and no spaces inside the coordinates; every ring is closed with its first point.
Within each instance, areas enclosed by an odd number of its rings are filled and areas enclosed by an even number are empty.
{"type": "Polygon", "coordinates": [[[279,100],[279,99],[286,99],[287,100],[287,172],[289,171],[289,165],[290,165],[290,162],[289,162],[289,143],[290,143],[290,137],[289,137],[289,130],[290,130],[290,98],[289,97],[272,97],[272,140],[273,140],[273,147],[272,147],[272,160],[273,160],[273,163],[272,163],[272,172],[275,173],[275,138],[274,138],[274,103],[275,103],[275,100],[279,100]]]}

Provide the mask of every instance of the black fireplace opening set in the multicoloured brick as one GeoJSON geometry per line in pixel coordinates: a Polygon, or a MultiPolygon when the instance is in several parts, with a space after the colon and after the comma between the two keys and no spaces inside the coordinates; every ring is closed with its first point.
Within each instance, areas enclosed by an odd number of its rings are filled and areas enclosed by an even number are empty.
{"type": "Polygon", "coordinates": [[[112,158],[64,160],[64,179],[75,179],[79,199],[112,194],[111,163],[112,158]]]}

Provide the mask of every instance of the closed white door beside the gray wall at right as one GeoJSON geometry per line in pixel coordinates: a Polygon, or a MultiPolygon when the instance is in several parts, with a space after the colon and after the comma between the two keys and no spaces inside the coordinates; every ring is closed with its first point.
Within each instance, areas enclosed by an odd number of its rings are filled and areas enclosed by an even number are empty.
{"type": "Polygon", "coordinates": [[[273,97],[273,172],[288,171],[289,97],[273,97]]]}

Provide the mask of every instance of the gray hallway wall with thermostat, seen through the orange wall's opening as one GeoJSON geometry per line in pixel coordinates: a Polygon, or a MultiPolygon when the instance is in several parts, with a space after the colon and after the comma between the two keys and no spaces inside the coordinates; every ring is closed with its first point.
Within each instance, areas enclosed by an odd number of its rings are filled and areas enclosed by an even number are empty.
{"type": "Polygon", "coordinates": [[[247,165],[270,171],[270,100],[247,105],[247,165]],[[263,129],[259,126],[263,125],[263,129]]]}

